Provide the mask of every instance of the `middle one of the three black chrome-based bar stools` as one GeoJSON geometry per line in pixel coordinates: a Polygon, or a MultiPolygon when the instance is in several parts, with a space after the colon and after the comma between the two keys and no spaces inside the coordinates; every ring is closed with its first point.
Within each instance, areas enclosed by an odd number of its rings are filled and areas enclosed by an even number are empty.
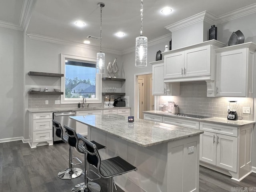
{"type": "MultiPolygon", "coordinates": [[[[88,170],[88,165],[87,165],[87,161],[86,161],[86,153],[87,152],[83,147],[84,143],[79,142],[79,140],[81,138],[83,138],[82,135],[77,134],[73,128],[70,128],[66,125],[64,125],[64,128],[66,129],[66,134],[68,135],[68,143],[71,144],[72,146],[75,146],[76,149],[78,150],[78,152],[84,154],[84,182],[77,184],[74,188],[72,188],[72,192],[100,192],[101,187],[99,184],[94,183],[94,182],[88,182],[88,179],[91,181],[99,179],[100,175],[98,175],[97,173],[95,173],[94,171],[91,170],[92,172],[94,172],[94,174],[96,174],[98,176],[98,178],[95,178],[95,179],[88,178],[89,170],[88,170]]],[[[98,147],[98,149],[105,148],[105,146],[103,146],[95,141],[91,141],[91,142],[93,144],[95,144],[98,147]]]]}

